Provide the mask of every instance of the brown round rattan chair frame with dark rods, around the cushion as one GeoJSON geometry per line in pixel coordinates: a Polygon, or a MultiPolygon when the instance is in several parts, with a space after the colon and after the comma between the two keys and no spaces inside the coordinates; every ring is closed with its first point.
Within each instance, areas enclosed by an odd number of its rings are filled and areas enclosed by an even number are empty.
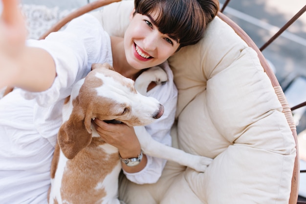
{"type": "MultiPolygon", "coordinates": [[[[73,11],[72,13],[70,13],[69,15],[67,15],[64,19],[60,20],[58,23],[56,23],[54,26],[52,26],[47,32],[45,32],[45,34],[43,36],[40,37],[40,39],[44,39],[49,33],[51,32],[55,32],[58,31],[60,28],[62,28],[66,23],[68,23],[69,21],[71,21],[73,18],[76,18],[82,14],[85,14],[89,11],[92,11],[96,8],[99,8],[101,6],[107,5],[111,2],[117,2],[120,0],[96,0],[93,1],[91,3],[88,3],[87,5],[80,7],[79,9],[73,11]]],[[[282,104],[283,107],[283,113],[286,116],[287,122],[291,128],[292,131],[292,136],[294,137],[294,140],[296,142],[296,150],[297,150],[297,156],[295,158],[295,165],[294,165],[294,171],[293,171],[293,175],[292,175],[292,181],[291,181],[291,194],[290,194],[290,199],[289,199],[289,204],[303,204],[306,202],[301,202],[298,201],[298,187],[299,187],[299,176],[300,176],[300,166],[299,166],[299,154],[298,154],[298,143],[297,143],[297,132],[296,132],[296,126],[292,117],[292,113],[291,110],[300,108],[302,106],[305,106],[306,103],[302,103],[298,106],[293,107],[292,109],[289,107],[286,97],[284,95],[284,92],[282,90],[282,87],[280,86],[273,70],[270,68],[269,64],[267,63],[266,59],[264,58],[263,54],[262,54],[262,50],[268,46],[275,38],[277,38],[291,23],[293,23],[299,16],[301,16],[305,10],[306,10],[306,6],[301,9],[301,11],[299,13],[297,13],[297,15],[292,18],[287,24],[284,25],[283,28],[281,28],[281,30],[275,34],[275,36],[273,36],[269,41],[267,41],[267,43],[265,45],[263,45],[261,48],[259,48],[254,42],[253,40],[240,28],[239,25],[237,25],[236,23],[234,23],[230,18],[228,18],[226,15],[224,15],[222,12],[224,10],[224,8],[227,6],[229,0],[226,0],[226,2],[223,4],[223,7],[220,9],[220,11],[218,12],[218,16],[221,20],[223,20],[224,22],[226,22],[227,24],[229,24],[234,30],[235,32],[247,43],[247,45],[249,45],[250,47],[252,47],[257,53],[258,53],[258,57],[260,59],[260,62],[262,64],[262,67],[264,69],[264,71],[266,72],[266,74],[268,75],[271,84],[275,90],[275,93],[278,96],[279,101],[282,104]]],[[[13,88],[7,88],[4,94],[7,94],[8,92],[12,91],[13,88]]]]}

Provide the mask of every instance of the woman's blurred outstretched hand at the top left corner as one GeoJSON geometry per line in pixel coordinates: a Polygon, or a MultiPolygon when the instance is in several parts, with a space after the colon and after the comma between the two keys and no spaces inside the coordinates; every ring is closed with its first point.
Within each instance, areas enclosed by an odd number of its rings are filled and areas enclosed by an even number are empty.
{"type": "Polygon", "coordinates": [[[14,83],[27,31],[18,0],[2,0],[0,18],[0,88],[14,83]]]}

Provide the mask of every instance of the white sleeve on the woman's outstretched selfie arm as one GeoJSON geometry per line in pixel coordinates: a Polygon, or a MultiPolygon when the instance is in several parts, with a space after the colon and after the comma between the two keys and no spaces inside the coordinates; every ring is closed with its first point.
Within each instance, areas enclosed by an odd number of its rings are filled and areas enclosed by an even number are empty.
{"type": "Polygon", "coordinates": [[[73,84],[90,71],[92,63],[112,65],[109,35],[90,14],[72,20],[64,31],[53,32],[45,40],[28,40],[27,45],[45,49],[56,66],[57,76],[48,90],[23,94],[27,99],[36,98],[44,107],[66,98],[73,84]]]}

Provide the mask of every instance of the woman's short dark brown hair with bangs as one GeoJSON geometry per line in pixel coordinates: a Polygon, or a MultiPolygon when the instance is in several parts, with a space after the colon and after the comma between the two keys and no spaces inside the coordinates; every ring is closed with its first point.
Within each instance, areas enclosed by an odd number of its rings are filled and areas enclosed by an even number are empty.
{"type": "MultiPolygon", "coordinates": [[[[150,16],[158,30],[180,43],[180,47],[196,44],[219,10],[219,0],[135,0],[135,13],[150,16]]],[[[179,47],[179,48],[180,48],[179,47]]]]}

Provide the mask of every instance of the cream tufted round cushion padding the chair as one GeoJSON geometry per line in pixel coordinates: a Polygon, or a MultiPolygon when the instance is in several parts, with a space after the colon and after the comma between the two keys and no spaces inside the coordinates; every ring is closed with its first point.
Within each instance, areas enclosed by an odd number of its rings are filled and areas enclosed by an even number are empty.
{"type": "MultiPolygon", "coordinates": [[[[123,36],[133,1],[93,13],[123,36]]],[[[256,52],[216,17],[204,38],[169,59],[178,88],[174,146],[213,158],[205,173],[168,162],[155,184],[122,178],[127,204],[286,204],[295,142],[256,52]]]]}

